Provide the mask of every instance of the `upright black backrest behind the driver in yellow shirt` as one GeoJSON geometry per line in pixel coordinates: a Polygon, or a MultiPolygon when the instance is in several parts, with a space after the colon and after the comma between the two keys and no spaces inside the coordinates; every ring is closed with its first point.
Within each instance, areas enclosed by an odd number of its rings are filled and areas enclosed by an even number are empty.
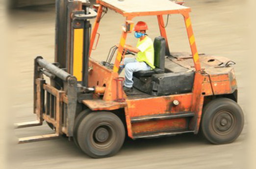
{"type": "Polygon", "coordinates": [[[164,70],[165,39],[158,36],[154,39],[154,66],[164,70]]]}

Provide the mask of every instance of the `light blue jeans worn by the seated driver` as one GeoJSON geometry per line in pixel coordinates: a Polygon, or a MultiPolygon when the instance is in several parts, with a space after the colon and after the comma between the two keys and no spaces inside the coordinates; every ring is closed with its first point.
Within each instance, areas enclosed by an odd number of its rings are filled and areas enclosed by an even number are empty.
{"type": "Polygon", "coordinates": [[[150,70],[151,67],[145,62],[138,62],[135,58],[125,58],[124,66],[125,67],[125,86],[132,87],[132,74],[140,70],[150,70]]]}

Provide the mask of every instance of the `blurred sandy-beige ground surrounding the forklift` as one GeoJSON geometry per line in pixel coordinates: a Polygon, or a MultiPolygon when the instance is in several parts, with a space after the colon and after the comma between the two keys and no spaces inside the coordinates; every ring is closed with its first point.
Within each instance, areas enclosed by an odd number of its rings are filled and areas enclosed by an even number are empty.
{"type": "MultiPolygon", "coordinates": [[[[95,0],[91,0],[91,3],[94,4],[95,0]]],[[[21,137],[51,133],[51,129],[45,124],[41,127],[19,129],[15,133],[3,129],[1,147],[5,148],[5,156],[2,156],[2,161],[7,161],[5,167],[9,169],[249,169],[250,167],[255,169],[250,165],[250,160],[255,158],[254,142],[253,139],[249,139],[250,131],[255,132],[254,102],[250,98],[254,95],[248,90],[250,86],[254,87],[250,82],[255,77],[255,69],[251,65],[253,62],[250,60],[254,59],[255,55],[250,52],[250,47],[252,49],[255,47],[255,43],[250,41],[253,35],[250,25],[255,18],[249,13],[255,6],[249,0],[185,0],[184,5],[192,8],[191,20],[199,53],[224,56],[236,63],[234,67],[239,87],[238,103],[245,114],[245,126],[234,143],[211,145],[201,135],[193,134],[135,141],[127,139],[117,155],[105,159],[91,159],[72,141],[69,142],[64,137],[11,147],[4,146],[9,145],[4,142],[6,137],[13,138],[14,134],[21,137]],[[248,68],[250,65],[252,69],[248,68]]],[[[1,54],[1,56],[8,56],[1,57],[3,64],[1,72],[3,74],[6,70],[8,72],[2,81],[7,83],[0,83],[3,85],[0,86],[1,89],[8,88],[5,90],[6,97],[1,96],[3,105],[1,111],[10,112],[1,120],[9,122],[8,124],[32,121],[35,118],[32,114],[33,59],[38,55],[49,62],[53,62],[54,59],[54,0],[9,0],[1,2],[1,6],[3,7],[0,8],[0,17],[4,25],[1,26],[2,40],[4,35],[8,35],[1,45],[2,49],[7,49],[6,55],[1,54]],[[4,7],[8,7],[8,11],[4,10],[4,7]]],[[[166,21],[166,16],[164,19],[166,21]]],[[[133,21],[140,20],[148,23],[148,34],[152,39],[159,36],[156,18],[141,17],[133,21]]],[[[94,20],[91,21],[93,22],[94,20]]],[[[108,10],[100,24],[101,38],[98,50],[92,53],[93,58],[99,61],[106,58],[109,48],[120,40],[123,23],[124,18],[121,15],[108,10]]],[[[170,50],[189,52],[182,17],[172,15],[166,29],[170,50]]],[[[131,45],[136,44],[132,34],[128,35],[127,40],[131,45]]]]}

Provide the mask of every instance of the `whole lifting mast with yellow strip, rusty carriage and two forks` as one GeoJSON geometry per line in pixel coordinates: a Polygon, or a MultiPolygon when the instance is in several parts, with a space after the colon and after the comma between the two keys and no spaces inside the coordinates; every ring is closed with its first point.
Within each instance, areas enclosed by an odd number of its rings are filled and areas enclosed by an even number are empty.
{"type": "Polygon", "coordinates": [[[73,136],[76,112],[81,108],[77,104],[78,93],[88,84],[89,19],[97,16],[89,7],[88,0],[56,0],[55,63],[41,56],[34,60],[33,109],[37,120],[15,124],[16,128],[23,128],[41,126],[46,121],[55,133],[20,138],[19,143],[55,138],[63,133],[73,136]],[[50,78],[50,84],[44,75],[50,78]]]}

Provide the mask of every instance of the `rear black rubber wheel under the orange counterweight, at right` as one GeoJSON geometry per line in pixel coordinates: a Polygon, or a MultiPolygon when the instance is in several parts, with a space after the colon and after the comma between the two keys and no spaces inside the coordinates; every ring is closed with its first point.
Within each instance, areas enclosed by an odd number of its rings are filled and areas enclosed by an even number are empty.
{"type": "Polygon", "coordinates": [[[218,98],[203,108],[201,129],[205,138],[213,144],[233,142],[244,126],[241,107],[231,99],[218,98]]]}

